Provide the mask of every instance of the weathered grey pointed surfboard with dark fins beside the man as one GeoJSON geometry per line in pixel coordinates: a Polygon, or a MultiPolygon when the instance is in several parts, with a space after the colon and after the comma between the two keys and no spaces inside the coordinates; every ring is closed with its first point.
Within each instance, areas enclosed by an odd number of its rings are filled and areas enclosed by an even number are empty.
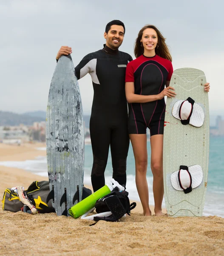
{"type": "Polygon", "coordinates": [[[50,193],[57,215],[81,201],[84,175],[82,102],[71,55],[57,62],[48,96],[46,150],[50,193]]]}

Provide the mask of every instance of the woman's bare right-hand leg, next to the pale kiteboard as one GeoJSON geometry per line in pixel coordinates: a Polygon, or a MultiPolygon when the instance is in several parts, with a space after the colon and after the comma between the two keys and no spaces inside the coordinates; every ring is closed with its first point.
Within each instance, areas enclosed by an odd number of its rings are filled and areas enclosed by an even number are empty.
{"type": "Polygon", "coordinates": [[[151,144],[151,169],[153,172],[153,195],[155,201],[155,215],[162,213],[162,199],[164,195],[163,187],[163,135],[157,134],[150,137],[151,144]]]}

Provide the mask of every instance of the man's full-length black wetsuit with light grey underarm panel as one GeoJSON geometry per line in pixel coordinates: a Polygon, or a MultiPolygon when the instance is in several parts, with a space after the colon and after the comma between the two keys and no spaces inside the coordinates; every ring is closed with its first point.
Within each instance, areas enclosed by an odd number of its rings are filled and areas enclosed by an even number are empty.
{"type": "Polygon", "coordinates": [[[110,146],[113,178],[126,185],[129,137],[125,70],[129,61],[132,58],[128,53],[105,46],[86,55],[75,67],[77,79],[89,73],[94,87],[90,119],[94,157],[91,181],[94,191],[105,185],[104,172],[110,146]]]}

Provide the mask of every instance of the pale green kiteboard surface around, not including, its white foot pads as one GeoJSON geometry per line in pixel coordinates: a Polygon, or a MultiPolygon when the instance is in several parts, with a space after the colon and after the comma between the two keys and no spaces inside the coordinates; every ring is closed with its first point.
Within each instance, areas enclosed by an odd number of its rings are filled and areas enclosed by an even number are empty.
{"type": "Polygon", "coordinates": [[[181,68],[173,72],[170,86],[176,97],[167,98],[164,122],[163,177],[167,214],[171,216],[201,216],[204,209],[209,163],[209,105],[208,93],[204,91],[204,72],[193,68],[181,68]],[[191,97],[204,111],[201,127],[182,125],[172,115],[175,102],[191,97]],[[201,166],[201,184],[185,194],[173,188],[171,175],[180,166],[201,166]]]}

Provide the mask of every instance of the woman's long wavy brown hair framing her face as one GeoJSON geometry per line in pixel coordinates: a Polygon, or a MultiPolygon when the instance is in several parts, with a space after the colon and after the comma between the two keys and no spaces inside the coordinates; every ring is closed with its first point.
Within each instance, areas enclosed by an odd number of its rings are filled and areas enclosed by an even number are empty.
{"type": "Polygon", "coordinates": [[[159,29],[157,29],[155,26],[153,25],[145,25],[138,34],[138,37],[136,38],[136,42],[135,42],[135,46],[134,46],[134,54],[135,57],[138,58],[140,55],[142,55],[144,53],[144,47],[141,46],[141,39],[142,39],[142,35],[145,29],[154,29],[156,31],[156,34],[158,36],[158,44],[159,44],[159,48],[155,48],[155,52],[157,55],[159,55],[162,58],[165,58],[169,61],[172,61],[172,57],[170,55],[170,51],[167,47],[167,44],[165,43],[165,39],[164,36],[162,35],[162,33],[159,31],[159,29]]]}

